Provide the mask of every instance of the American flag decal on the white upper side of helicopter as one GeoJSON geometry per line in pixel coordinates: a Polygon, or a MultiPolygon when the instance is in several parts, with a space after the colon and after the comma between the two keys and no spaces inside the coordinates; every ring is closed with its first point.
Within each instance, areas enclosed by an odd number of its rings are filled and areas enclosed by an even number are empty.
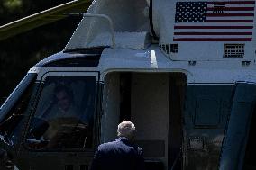
{"type": "Polygon", "coordinates": [[[251,41],[255,1],[177,2],[173,41],[251,41]]]}

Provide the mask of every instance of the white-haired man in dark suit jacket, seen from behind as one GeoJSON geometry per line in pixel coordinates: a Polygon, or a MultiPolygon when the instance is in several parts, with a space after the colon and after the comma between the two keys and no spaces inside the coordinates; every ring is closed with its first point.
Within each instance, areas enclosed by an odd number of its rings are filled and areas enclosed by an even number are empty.
{"type": "Polygon", "coordinates": [[[143,152],[133,144],[134,133],[133,122],[121,122],[117,128],[118,138],[97,148],[91,170],[143,170],[143,152]]]}

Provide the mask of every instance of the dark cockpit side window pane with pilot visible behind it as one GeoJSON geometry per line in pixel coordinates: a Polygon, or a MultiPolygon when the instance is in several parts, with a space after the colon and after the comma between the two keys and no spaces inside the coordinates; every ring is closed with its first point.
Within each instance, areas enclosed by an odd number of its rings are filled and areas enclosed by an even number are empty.
{"type": "Polygon", "coordinates": [[[31,148],[92,148],[96,76],[48,76],[27,135],[31,148]]]}

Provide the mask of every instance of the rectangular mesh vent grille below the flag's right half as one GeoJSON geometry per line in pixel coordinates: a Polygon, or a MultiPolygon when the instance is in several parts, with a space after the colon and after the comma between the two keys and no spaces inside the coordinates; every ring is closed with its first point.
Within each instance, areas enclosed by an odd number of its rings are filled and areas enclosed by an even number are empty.
{"type": "Polygon", "coordinates": [[[224,58],[243,58],[244,44],[224,44],[224,58]]]}

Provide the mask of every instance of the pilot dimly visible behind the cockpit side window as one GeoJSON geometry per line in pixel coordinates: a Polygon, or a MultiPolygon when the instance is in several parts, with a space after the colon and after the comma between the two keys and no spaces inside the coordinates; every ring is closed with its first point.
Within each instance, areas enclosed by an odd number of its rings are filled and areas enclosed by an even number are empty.
{"type": "Polygon", "coordinates": [[[42,117],[50,125],[43,136],[44,139],[51,140],[50,147],[54,147],[59,138],[63,138],[58,137],[59,135],[71,134],[78,125],[86,126],[86,123],[80,120],[81,115],[78,112],[78,107],[73,102],[73,94],[67,86],[56,86],[54,97],[52,106],[42,117]]]}

